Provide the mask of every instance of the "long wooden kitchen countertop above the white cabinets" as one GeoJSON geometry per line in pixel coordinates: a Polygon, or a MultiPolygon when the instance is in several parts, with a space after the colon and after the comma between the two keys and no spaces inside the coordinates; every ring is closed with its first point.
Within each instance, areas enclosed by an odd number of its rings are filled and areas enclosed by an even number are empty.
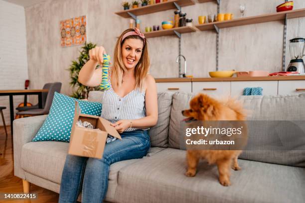
{"type": "Polygon", "coordinates": [[[305,80],[305,76],[267,76],[267,77],[231,77],[231,78],[155,78],[156,83],[221,82],[221,81],[282,81],[282,80],[305,80]]]}

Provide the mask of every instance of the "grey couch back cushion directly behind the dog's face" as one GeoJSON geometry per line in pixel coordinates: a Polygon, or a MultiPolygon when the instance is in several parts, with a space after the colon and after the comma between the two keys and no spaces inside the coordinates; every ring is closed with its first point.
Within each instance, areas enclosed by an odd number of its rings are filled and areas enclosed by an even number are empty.
{"type": "Polygon", "coordinates": [[[172,148],[180,148],[180,126],[181,120],[185,117],[181,111],[189,108],[189,102],[193,94],[176,92],[172,95],[172,105],[170,110],[169,132],[168,132],[168,146],[172,148]]]}

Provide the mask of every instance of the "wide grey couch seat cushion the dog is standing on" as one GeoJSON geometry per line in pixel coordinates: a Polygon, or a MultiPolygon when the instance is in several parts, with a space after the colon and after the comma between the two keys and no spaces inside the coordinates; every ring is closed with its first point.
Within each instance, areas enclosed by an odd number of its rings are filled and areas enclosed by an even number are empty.
{"type": "Polygon", "coordinates": [[[185,151],[167,148],[119,172],[121,203],[304,203],[305,169],[239,160],[232,186],[219,184],[216,166],[199,163],[195,177],[184,176],[185,151]]]}

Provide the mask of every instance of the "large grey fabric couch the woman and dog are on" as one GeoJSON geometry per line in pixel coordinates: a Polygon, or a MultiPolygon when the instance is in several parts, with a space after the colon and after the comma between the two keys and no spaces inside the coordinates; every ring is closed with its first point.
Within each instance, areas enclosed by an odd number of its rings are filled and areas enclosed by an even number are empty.
{"type": "MultiPolygon", "coordinates": [[[[89,101],[101,101],[102,94],[90,92],[89,101]]],[[[158,93],[158,122],[150,130],[151,150],[142,159],[111,165],[107,202],[305,203],[302,150],[244,151],[239,159],[242,170],[232,170],[230,187],[221,186],[217,167],[204,161],[199,163],[195,177],[184,176],[185,151],[179,149],[179,125],[181,110],[188,107],[191,97],[158,93]]],[[[305,120],[305,95],[247,96],[239,100],[252,111],[249,120],[305,120]]],[[[45,118],[14,120],[14,175],[59,193],[69,143],[31,142],[45,118]]],[[[264,138],[255,140],[264,145],[264,138]]]]}

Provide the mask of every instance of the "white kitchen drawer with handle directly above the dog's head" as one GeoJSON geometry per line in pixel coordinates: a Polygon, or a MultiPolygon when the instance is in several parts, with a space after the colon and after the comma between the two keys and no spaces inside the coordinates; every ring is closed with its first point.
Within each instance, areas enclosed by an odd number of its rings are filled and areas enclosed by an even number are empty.
{"type": "Polygon", "coordinates": [[[192,82],[192,91],[195,94],[204,93],[211,96],[230,96],[231,82],[192,82]]]}

